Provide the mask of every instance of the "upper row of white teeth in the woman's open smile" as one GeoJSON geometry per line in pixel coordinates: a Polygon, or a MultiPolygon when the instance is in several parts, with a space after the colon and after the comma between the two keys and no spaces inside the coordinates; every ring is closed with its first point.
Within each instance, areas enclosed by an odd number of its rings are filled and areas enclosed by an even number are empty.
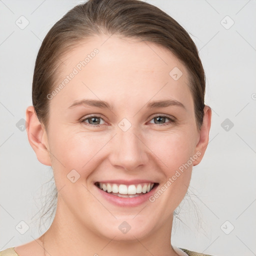
{"type": "Polygon", "coordinates": [[[152,189],[153,185],[154,183],[151,182],[131,184],[128,186],[124,184],[98,183],[99,188],[103,191],[120,197],[135,197],[139,194],[147,193],[152,189]]]}

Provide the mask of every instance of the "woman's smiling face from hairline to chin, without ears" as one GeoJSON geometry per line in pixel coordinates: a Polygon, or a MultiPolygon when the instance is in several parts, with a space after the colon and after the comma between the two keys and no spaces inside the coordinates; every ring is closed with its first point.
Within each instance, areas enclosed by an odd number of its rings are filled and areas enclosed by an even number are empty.
{"type": "Polygon", "coordinates": [[[108,37],[62,58],[45,141],[62,217],[100,236],[141,238],[171,225],[199,132],[182,63],[154,43],[108,37]]]}

